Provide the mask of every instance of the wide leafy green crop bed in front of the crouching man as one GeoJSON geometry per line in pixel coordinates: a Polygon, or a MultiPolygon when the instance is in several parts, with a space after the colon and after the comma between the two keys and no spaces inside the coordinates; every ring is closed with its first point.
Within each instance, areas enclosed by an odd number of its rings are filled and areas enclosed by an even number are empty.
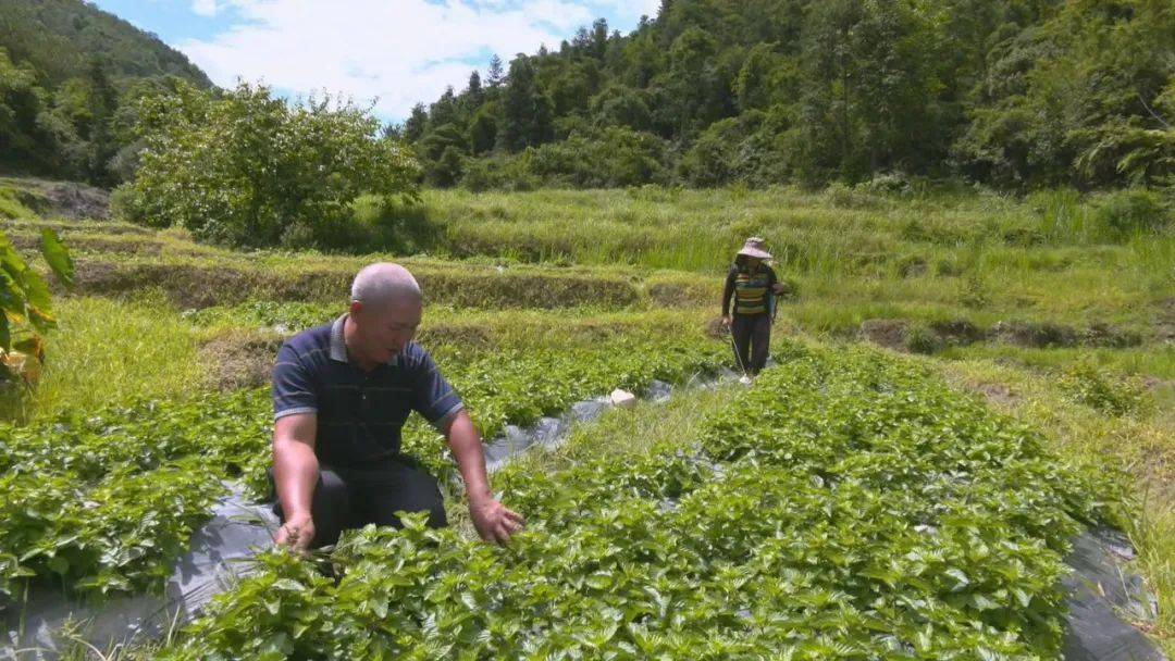
{"type": "Polygon", "coordinates": [[[867,350],[791,349],[703,430],[505,467],[529,520],[506,548],[411,518],[317,561],[262,555],[162,656],[1055,659],[1067,539],[1123,501],[867,350]]]}

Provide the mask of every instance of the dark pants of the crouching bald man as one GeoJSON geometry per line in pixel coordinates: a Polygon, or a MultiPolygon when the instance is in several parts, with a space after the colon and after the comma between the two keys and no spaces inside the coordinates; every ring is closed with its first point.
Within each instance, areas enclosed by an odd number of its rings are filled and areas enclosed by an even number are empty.
{"type": "MultiPolygon", "coordinates": [[[[273,484],[273,468],[269,479],[273,484]]],[[[284,522],[282,506],[276,503],[276,497],[274,500],[274,513],[284,522]]],[[[310,503],[315,530],[310,547],[335,544],[344,530],[367,524],[398,528],[396,512],[428,512],[429,526],[439,528],[448,525],[441,487],[432,475],[410,459],[380,460],[363,468],[321,466],[310,503]]]]}

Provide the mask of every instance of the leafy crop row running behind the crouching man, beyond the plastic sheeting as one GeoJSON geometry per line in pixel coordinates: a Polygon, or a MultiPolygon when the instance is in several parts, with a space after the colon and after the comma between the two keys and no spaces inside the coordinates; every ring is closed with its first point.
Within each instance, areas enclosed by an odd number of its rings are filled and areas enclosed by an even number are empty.
{"type": "MultiPolygon", "coordinates": [[[[569,352],[448,351],[437,359],[489,438],[612,387],[680,380],[724,356],[721,345],[697,337],[569,352]]],[[[0,429],[0,603],[18,598],[25,579],[88,595],[161,588],[226,491],[222,480],[266,492],[270,434],[268,389],[0,429]]],[[[434,471],[451,466],[418,418],[404,448],[434,471]]]]}

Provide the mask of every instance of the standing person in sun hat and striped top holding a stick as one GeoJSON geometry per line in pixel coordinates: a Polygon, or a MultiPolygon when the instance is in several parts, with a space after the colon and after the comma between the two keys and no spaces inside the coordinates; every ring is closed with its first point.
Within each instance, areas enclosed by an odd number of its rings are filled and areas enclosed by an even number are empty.
{"type": "Polygon", "coordinates": [[[723,288],[723,326],[731,330],[734,359],[745,382],[767,363],[774,297],[784,288],[766,263],[770,258],[761,238],[747,238],[734,256],[723,288]]]}

